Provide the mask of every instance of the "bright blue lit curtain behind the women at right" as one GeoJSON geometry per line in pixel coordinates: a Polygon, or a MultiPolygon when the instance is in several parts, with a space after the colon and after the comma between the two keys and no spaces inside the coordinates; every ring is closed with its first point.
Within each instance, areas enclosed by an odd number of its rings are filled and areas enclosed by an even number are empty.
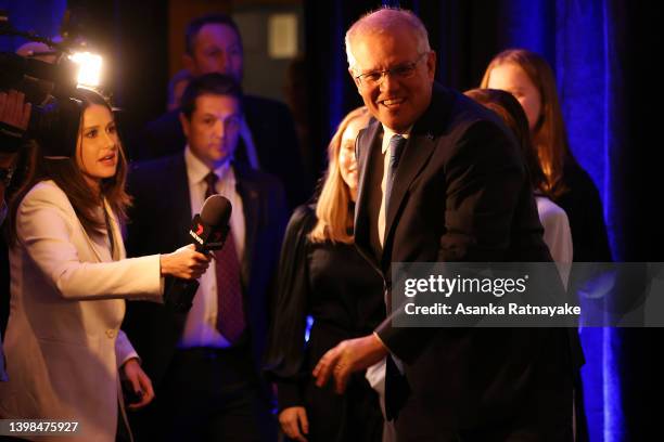
{"type": "MultiPolygon", "coordinates": [[[[620,208],[612,195],[620,180],[614,177],[613,161],[621,147],[611,125],[615,89],[610,48],[616,37],[606,10],[605,1],[505,1],[505,48],[538,52],[553,67],[572,151],[599,190],[614,258],[621,260],[614,219],[620,208]]],[[[618,375],[621,335],[613,328],[586,328],[580,337],[590,440],[621,441],[625,432],[618,375]]]]}

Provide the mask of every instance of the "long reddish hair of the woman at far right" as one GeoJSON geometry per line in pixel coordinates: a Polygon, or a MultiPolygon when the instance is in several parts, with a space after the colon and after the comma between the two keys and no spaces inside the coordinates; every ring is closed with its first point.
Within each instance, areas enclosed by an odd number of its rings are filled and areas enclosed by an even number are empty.
{"type": "Polygon", "coordinates": [[[565,164],[576,162],[570,150],[558,101],[556,77],[541,55],[525,49],[508,49],[491,60],[484,72],[480,87],[488,88],[491,69],[503,64],[513,64],[522,68],[539,91],[541,114],[532,131],[532,138],[539,164],[546,176],[546,193],[556,199],[567,191],[563,182],[565,164]]]}

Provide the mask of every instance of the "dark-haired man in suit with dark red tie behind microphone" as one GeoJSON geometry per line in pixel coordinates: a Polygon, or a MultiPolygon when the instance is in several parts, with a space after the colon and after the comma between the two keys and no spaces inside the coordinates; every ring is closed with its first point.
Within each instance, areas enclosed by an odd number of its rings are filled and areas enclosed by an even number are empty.
{"type": "Polygon", "coordinates": [[[224,195],[233,208],[224,249],[215,252],[215,269],[201,277],[189,313],[146,302],[128,306],[124,329],[157,396],[135,419],[145,440],[276,438],[270,390],[258,374],[285,200],[278,179],[232,161],[240,118],[241,91],[232,78],[193,79],[182,98],[184,152],[139,164],[130,173],[131,256],[189,243],[192,214],[210,194],[224,195]]]}

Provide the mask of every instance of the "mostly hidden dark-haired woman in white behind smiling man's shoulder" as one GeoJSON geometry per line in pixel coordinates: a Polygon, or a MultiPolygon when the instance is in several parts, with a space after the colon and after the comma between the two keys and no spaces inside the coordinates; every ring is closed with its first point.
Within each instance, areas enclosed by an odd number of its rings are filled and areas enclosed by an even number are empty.
{"type": "Polygon", "coordinates": [[[494,110],[512,130],[526,161],[531,184],[535,192],[539,221],[544,226],[544,239],[551,258],[558,265],[563,283],[567,285],[573,258],[572,234],[565,211],[547,195],[546,176],[539,166],[537,152],[531,142],[528,120],[523,107],[509,92],[497,89],[472,89],[464,94],[494,110]]]}

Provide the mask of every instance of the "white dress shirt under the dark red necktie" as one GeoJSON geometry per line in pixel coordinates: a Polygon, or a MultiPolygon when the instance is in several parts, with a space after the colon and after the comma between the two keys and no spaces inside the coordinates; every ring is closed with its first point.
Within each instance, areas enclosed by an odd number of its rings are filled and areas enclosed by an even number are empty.
{"type": "MultiPolygon", "coordinates": [[[[205,177],[209,169],[203,161],[196,158],[189,146],[184,150],[184,164],[187,166],[187,178],[189,180],[189,199],[191,203],[191,216],[201,212],[205,202],[207,183],[205,177]]],[[[227,240],[235,242],[238,260],[242,262],[244,256],[244,210],[242,198],[235,188],[235,173],[230,161],[225,162],[214,170],[217,177],[215,192],[228,198],[232,205],[230,218],[231,234],[227,240]]],[[[187,315],[182,338],[179,348],[192,347],[230,347],[230,342],[217,330],[217,276],[215,263],[210,262],[207,271],[199,280],[201,286],[193,299],[193,306],[187,315]]]]}

